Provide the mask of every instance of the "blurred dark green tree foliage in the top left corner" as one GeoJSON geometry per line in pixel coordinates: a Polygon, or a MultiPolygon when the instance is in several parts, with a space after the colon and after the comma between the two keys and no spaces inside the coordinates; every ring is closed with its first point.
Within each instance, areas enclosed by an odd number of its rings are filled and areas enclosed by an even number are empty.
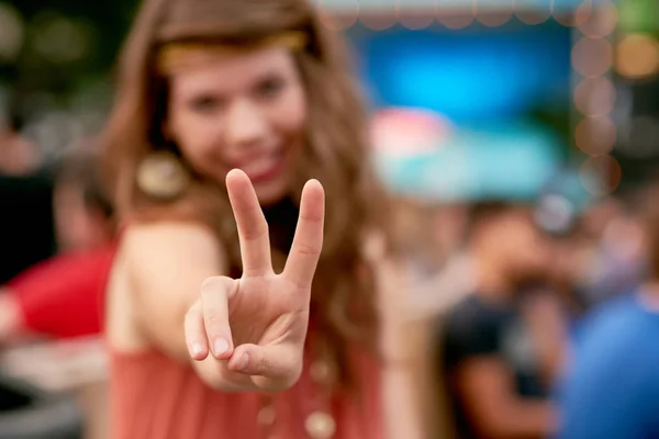
{"type": "MultiPolygon", "coordinates": [[[[111,72],[136,4],[136,0],[0,1],[0,8],[18,12],[23,34],[15,59],[0,59],[0,80],[19,95],[47,91],[66,104],[86,82],[111,72]]],[[[0,47],[7,36],[0,31],[0,47]]]]}

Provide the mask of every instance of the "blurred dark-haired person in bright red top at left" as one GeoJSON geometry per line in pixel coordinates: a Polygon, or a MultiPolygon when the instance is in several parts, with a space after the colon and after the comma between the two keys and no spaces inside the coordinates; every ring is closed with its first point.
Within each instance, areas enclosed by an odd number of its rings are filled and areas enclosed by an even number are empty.
{"type": "Polygon", "coordinates": [[[72,338],[101,330],[114,255],[114,212],[98,181],[97,157],[66,157],[55,176],[60,254],[0,286],[0,344],[25,336],[72,338]]]}

